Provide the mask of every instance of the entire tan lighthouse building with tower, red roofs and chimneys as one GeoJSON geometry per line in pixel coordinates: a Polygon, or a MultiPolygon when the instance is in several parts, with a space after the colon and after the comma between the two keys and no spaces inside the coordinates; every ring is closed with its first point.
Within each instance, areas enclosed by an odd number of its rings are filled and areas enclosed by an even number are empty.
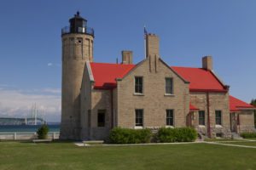
{"type": "Polygon", "coordinates": [[[252,105],[232,97],[213,71],[167,65],[159,37],[146,34],[146,59],[93,62],[94,31],[79,13],[62,29],[61,139],[106,139],[113,127],[195,127],[208,137],[255,131],[252,105]]]}

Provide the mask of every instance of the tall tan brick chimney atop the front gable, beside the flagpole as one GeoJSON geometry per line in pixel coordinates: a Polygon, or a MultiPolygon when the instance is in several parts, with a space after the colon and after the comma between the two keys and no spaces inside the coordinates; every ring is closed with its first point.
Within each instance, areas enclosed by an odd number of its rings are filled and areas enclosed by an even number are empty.
{"type": "Polygon", "coordinates": [[[160,57],[159,37],[151,33],[146,35],[146,57],[148,57],[149,55],[160,57]]]}

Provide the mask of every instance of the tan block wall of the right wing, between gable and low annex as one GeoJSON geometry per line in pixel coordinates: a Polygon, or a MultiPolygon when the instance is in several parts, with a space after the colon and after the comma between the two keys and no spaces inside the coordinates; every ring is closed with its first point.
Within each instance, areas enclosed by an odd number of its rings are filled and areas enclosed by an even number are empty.
{"type": "MultiPolygon", "coordinates": [[[[195,113],[194,127],[203,134],[207,135],[208,112],[207,112],[207,93],[190,93],[190,102],[200,111],[205,111],[205,126],[199,126],[198,112],[195,113]]],[[[216,137],[217,133],[222,133],[224,137],[230,137],[230,103],[228,93],[209,93],[210,129],[211,137],[216,137]],[[215,111],[222,112],[221,126],[215,123],[215,111]]]]}

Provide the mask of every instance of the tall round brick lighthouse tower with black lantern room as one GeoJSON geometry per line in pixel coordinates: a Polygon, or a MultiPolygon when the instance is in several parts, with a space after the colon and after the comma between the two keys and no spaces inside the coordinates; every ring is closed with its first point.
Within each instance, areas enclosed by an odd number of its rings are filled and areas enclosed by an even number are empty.
{"type": "Polygon", "coordinates": [[[61,29],[62,94],[60,139],[79,139],[80,88],[84,65],[93,61],[94,30],[77,12],[61,29]]]}

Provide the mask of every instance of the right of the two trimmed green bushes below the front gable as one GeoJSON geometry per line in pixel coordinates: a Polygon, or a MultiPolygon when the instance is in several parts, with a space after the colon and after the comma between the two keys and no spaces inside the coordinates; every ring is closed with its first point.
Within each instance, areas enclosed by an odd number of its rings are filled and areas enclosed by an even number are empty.
{"type": "Polygon", "coordinates": [[[193,142],[195,141],[196,137],[197,133],[195,129],[190,127],[161,127],[156,134],[156,140],[160,143],[193,142]]]}

